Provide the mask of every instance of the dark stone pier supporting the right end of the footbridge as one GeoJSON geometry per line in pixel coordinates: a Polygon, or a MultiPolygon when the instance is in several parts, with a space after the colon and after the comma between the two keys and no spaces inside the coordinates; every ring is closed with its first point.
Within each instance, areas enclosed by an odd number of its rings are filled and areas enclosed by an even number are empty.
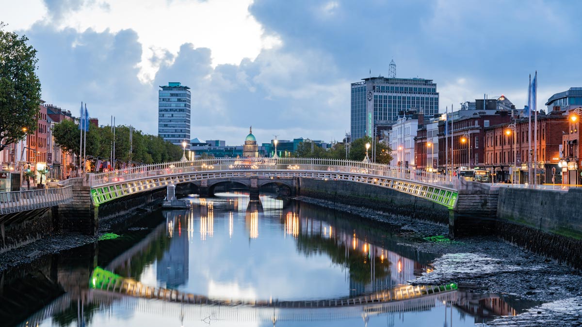
{"type": "Polygon", "coordinates": [[[451,237],[491,235],[495,233],[499,189],[489,184],[461,179],[455,208],[449,211],[451,237]]]}

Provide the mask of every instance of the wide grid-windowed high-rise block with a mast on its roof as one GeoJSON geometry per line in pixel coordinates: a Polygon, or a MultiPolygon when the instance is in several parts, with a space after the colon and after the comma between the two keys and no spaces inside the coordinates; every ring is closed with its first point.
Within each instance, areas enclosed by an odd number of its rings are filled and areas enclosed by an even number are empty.
{"type": "Polygon", "coordinates": [[[374,137],[379,125],[392,125],[400,112],[438,113],[437,84],[425,79],[370,77],[352,83],[352,140],[374,137]]]}

